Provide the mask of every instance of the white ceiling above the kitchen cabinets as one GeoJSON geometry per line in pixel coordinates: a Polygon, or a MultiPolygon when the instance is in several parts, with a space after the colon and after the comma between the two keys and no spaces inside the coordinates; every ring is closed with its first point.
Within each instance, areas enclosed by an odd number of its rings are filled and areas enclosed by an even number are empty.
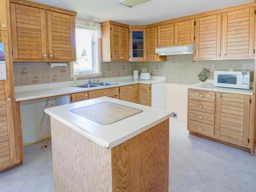
{"type": "Polygon", "coordinates": [[[78,18],[93,17],[95,22],[114,20],[128,25],[146,25],[194,13],[240,5],[252,0],[155,0],[128,8],[118,0],[32,0],[77,11],[78,18]]]}

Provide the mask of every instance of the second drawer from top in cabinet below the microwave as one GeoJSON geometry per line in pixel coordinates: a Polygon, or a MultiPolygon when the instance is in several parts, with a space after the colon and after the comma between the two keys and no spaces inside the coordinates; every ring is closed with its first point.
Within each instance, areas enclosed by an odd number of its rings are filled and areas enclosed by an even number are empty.
{"type": "Polygon", "coordinates": [[[215,103],[189,99],[189,109],[214,114],[215,103]]]}

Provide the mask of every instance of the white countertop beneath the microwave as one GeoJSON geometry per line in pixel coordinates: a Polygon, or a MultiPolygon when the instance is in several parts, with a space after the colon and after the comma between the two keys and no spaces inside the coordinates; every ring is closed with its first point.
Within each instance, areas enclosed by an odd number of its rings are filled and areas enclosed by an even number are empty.
{"type": "Polygon", "coordinates": [[[253,95],[253,88],[246,89],[233,89],[233,88],[221,88],[215,87],[212,83],[197,83],[191,86],[188,86],[189,89],[198,89],[198,90],[206,90],[206,91],[216,91],[216,92],[225,92],[225,93],[236,93],[236,94],[244,94],[244,95],[253,95]]]}

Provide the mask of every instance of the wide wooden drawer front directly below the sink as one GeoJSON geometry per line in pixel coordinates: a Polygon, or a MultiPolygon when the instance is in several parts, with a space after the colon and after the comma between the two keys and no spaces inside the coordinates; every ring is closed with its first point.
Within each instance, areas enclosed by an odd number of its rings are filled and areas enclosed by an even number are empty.
{"type": "Polygon", "coordinates": [[[119,99],[119,87],[89,91],[89,99],[103,96],[119,99]]]}

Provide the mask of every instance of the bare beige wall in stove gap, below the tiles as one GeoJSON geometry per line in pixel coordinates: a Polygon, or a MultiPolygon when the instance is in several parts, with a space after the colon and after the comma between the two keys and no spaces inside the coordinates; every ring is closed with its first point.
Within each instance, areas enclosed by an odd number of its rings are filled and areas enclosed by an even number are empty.
{"type": "Polygon", "coordinates": [[[166,109],[178,114],[179,121],[187,121],[186,84],[166,83],[166,109]]]}

